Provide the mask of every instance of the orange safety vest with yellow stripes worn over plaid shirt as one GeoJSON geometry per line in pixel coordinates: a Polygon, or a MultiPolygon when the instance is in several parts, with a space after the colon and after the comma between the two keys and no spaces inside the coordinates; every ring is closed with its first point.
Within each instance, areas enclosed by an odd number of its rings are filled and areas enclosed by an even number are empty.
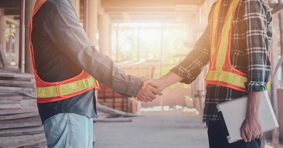
{"type": "MultiPolygon", "coordinates": [[[[231,50],[231,28],[235,11],[240,0],[232,0],[226,19],[223,24],[223,29],[217,40],[219,12],[222,0],[218,0],[212,10],[211,25],[210,25],[210,65],[206,76],[206,86],[208,84],[230,87],[232,89],[247,92],[245,82],[248,81],[247,74],[237,70],[231,65],[230,50],[231,50]]],[[[269,54],[271,60],[271,51],[269,54]]],[[[270,78],[267,83],[267,92],[270,87],[270,78]]]]}

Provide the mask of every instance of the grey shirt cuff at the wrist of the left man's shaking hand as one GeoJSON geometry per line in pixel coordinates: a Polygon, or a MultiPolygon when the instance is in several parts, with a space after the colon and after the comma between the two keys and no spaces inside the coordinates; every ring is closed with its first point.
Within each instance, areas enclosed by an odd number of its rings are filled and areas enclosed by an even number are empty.
{"type": "Polygon", "coordinates": [[[140,88],[141,88],[141,78],[140,77],[136,77],[136,76],[130,76],[130,85],[127,88],[127,91],[125,92],[126,95],[129,96],[137,96],[140,88]]]}

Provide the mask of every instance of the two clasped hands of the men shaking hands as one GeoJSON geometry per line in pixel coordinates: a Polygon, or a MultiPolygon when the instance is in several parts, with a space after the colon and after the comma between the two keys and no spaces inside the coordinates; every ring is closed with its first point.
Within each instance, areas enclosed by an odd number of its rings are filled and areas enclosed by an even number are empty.
{"type": "Polygon", "coordinates": [[[147,79],[145,77],[141,77],[142,84],[140,91],[137,96],[133,96],[138,101],[153,101],[156,99],[156,95],[162,96],[162,91],[166,88],[162,87],[162,83],[160,79],[147,79]]]}

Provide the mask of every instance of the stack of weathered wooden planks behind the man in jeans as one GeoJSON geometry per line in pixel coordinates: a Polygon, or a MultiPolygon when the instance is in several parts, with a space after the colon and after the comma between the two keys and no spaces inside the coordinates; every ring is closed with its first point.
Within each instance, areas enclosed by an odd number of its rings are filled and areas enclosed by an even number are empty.
{"type": "Polygon", "coordinates": [[[0,147],[46,146],[40,120],[35,81],[19,69],[0,67],[0,147]]]}

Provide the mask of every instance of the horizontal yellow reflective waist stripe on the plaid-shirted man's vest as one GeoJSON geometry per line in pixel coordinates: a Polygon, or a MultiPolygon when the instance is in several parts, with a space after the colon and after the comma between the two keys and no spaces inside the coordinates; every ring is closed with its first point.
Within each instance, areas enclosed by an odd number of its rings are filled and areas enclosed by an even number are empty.
{"type": "Polygon", "coordinates": [[[206,80],[221,81],[246,88],[245,82],[248,81],[248,78],[227,71],[211,70],[208,72],[206,80]]]}

